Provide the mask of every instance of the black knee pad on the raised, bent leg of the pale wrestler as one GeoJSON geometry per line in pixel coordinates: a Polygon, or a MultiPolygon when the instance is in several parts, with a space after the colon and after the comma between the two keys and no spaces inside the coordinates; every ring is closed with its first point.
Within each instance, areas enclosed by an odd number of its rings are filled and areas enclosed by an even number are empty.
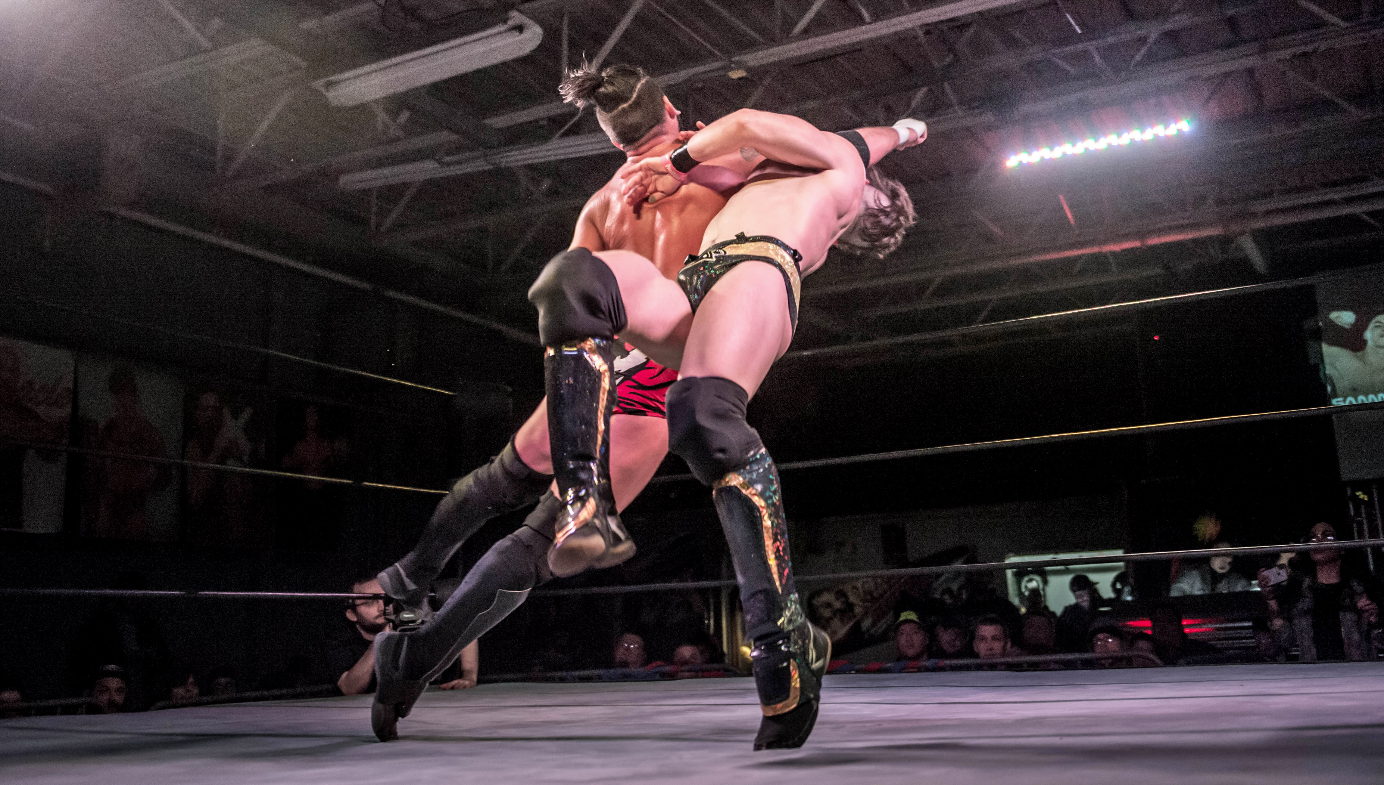
{"type": "Polygon", "coordinates": [[[613,339],[626,326],[614,274],[584,247],[552,257],[529,287],[529,301],[538,307],[544,346],[613,339]]]}

